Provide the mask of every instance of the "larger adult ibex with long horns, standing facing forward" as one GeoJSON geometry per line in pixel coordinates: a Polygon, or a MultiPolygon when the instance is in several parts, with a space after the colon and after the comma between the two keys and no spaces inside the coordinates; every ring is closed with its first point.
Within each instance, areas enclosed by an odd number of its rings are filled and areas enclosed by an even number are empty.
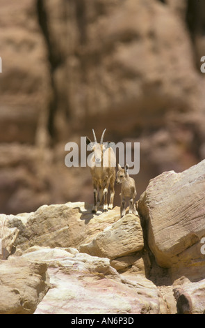
{"type": "Polygon", "coordinates": [[[97,204],[101,204],[104,197],[104,211],[113,209],[113,199],[115,195],[115,153],[109,143],[104,143],[104,134],[101,135],[101,140],[98,143],[95,136],[95,131],[92,129],[94,142],[91,142],[87,137],[87,144],[90,144],[93,154],[90,158],[90,172],[92,174],[92,184],[94,188],[94,205],[92,213],[97,212],[97,204]],[[110,186],[110,203],[108,206],[108,187],[110,186]],[[99,190],[99,192],[98,192],[99,190]]]}

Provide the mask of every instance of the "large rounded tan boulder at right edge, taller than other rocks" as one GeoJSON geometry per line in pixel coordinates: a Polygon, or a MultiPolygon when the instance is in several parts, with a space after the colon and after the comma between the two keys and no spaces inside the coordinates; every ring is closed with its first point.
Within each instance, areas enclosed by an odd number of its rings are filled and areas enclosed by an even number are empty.
{"type": "Polygon", "coordinates": [[[205,236],[204,172],[205,160],[181,173],[164,172],[151,179],[138,202],[149,248],[158,264],[200,268],[201,278],[205,265],[200,251],[205,236]]]}

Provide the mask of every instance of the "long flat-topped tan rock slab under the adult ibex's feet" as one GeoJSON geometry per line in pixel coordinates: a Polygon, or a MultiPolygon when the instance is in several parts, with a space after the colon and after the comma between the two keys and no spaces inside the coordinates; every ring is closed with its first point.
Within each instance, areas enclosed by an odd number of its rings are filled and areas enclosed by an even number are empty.
{"type": "Polygon", "coordinates": [[[30,215],[7,216],[8,226],[17,227],[16,246],[78,247],[120,218],[120,209],[92,214],[92,206],[84,202],[43,205],[30,215]]]}

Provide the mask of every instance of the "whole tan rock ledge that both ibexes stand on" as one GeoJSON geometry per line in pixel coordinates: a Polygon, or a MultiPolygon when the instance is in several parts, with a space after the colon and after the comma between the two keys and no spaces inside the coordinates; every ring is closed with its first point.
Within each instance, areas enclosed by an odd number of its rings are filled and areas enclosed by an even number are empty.
{"type": "Polygon", "coordinates": [[[32,213],[8,215],[7,225],[17,228],[17,252],[31,246],[75,247],[82,253],[111,259],[117,271],[145,274],[149,258],[144,250],[140,218],[120,208],[92,214],[92,205],[84,202],[44,205],[32,213]]]}

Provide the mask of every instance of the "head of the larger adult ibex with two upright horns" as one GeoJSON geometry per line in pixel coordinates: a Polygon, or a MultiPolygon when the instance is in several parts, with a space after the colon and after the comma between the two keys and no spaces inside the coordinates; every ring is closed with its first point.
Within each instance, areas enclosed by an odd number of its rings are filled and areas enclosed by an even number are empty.
{"type": "Polygon", "coordinates": [[[89,144],[90,150],[94,152],[93,161],[95,161],[96,164],[100,164],[103,158],[104,151],[106,150],[106,145],[104,142],[104,134],[106,132],[106,128],[104,129],[104,132],[101,135],[100,142],[97,142],[97,137],[95,135],[94,129],[92,129],[92,133],[94,136],[94,142],[92,142],[89,137],[86,137],[86,143],[89,144]]]}

